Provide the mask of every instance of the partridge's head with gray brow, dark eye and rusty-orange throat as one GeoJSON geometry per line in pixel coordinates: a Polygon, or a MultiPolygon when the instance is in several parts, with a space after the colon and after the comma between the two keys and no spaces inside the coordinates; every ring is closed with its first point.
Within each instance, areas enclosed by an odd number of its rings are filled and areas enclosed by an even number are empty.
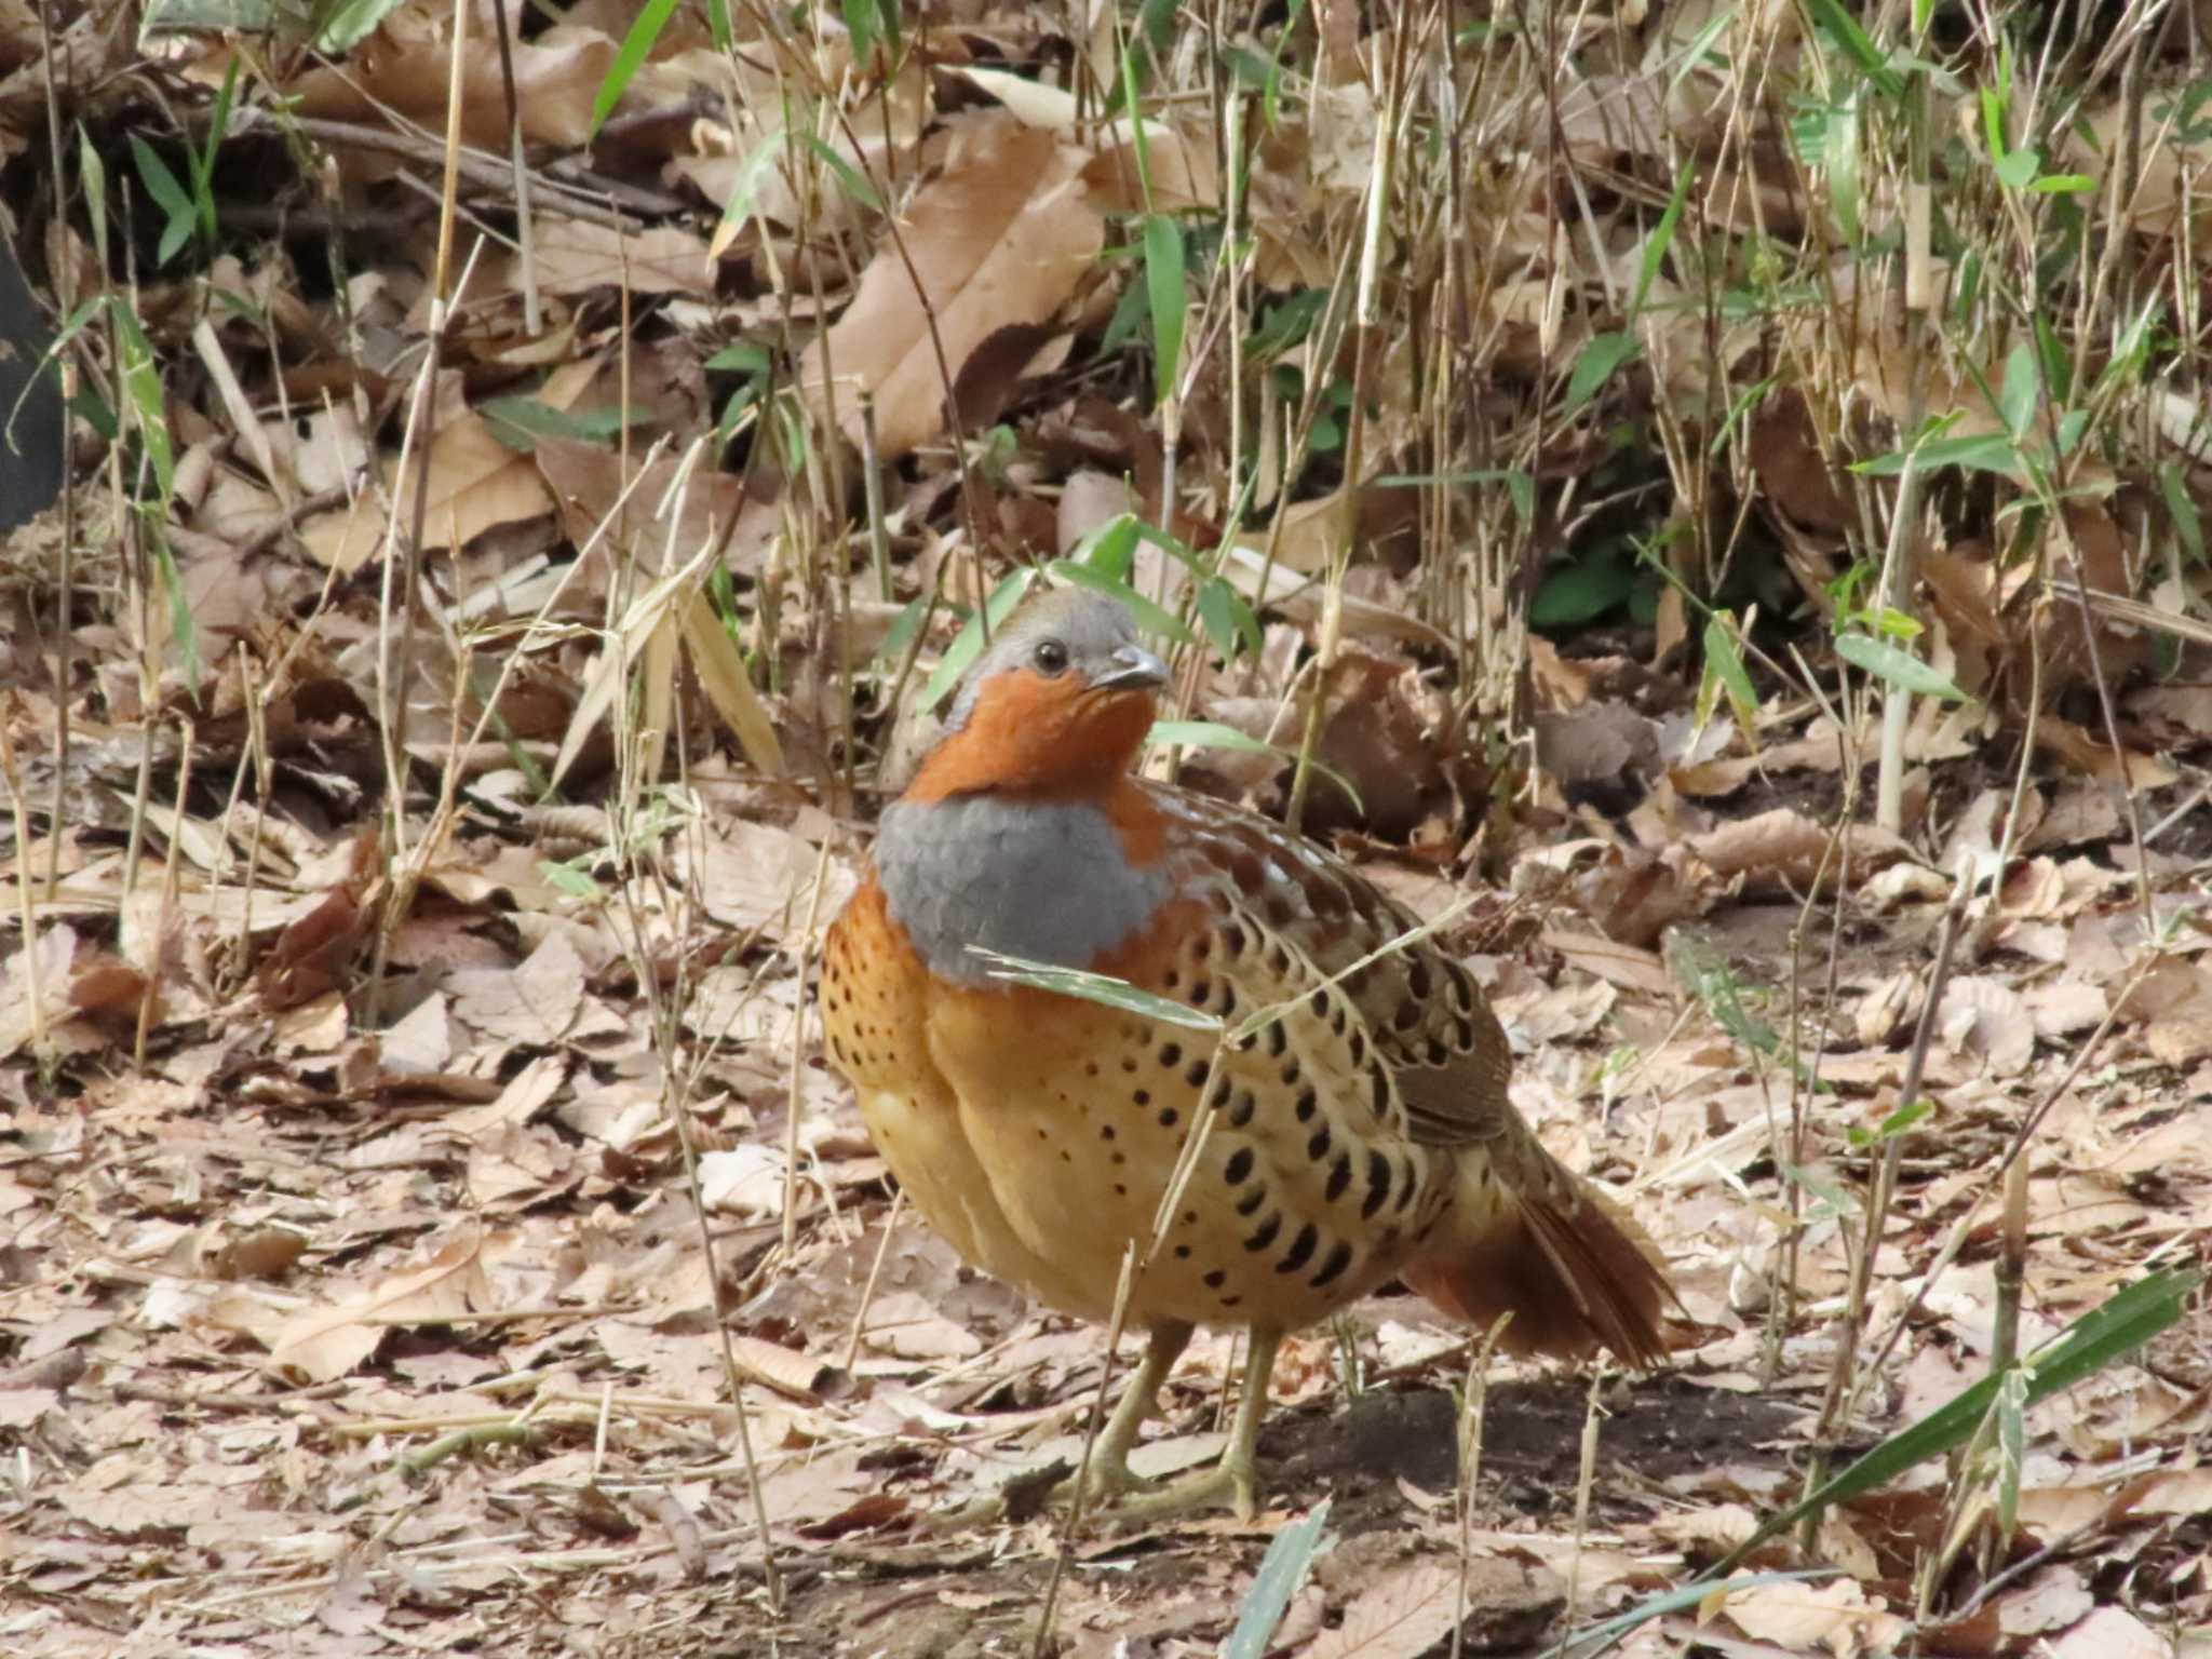
{"type": "Polygon", "coordinates": [[[905,799],[1099,794],[1137,759],[1166,681],[1166,664],[1137,644],[1119,599],[1044,593],[969,668],[905,799]]]}

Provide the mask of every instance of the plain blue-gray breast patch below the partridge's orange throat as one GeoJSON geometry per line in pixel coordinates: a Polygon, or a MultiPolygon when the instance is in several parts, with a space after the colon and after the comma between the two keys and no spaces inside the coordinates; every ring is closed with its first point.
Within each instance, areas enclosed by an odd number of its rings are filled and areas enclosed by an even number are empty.
{"type": "Polygon", "coordinates": [[[962,984],[991,978],[971,947],[1095,967],[1170,889],[1164,869],[1128,863],[1099,807],[987,794],[885,810],[876,878],[929,969],[962,984]]]}

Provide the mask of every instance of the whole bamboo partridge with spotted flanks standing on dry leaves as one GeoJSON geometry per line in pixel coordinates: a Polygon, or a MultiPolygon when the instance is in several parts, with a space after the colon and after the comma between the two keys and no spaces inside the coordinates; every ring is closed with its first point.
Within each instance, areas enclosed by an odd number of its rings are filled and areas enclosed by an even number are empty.
{"type": "Polygon", "coordinates": [[[916,1208],[978,1267],[1108,1318],[1124,1250],[1144,1363],[1084,1480],[1128,1453],[1194,1325],[1250,1327],[1221,1469],[1254,1506],[1283,1332],[1391,1276],[1506,1347],[1661,1352],[1668,1281],[1632,1221],[1506,1099],[1480,987],[1352,867],[1133,776],[1166,670],[1097,593],[1033,599],[969,672],[830,929],[823,1024],[916,1208]],[[1126,980],[1188,1029],[1011,984],[993,956],[1126,980]],[[1148,1252],[1186,1146],[1188,1181],[1148,1252]]]}

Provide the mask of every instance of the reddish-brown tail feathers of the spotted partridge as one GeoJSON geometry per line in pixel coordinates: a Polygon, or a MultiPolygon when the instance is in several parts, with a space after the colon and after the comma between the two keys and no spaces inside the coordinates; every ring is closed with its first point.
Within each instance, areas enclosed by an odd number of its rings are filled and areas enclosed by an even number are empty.
{"type": "Polygon", "coordinates": [[[1579,1358],[1604,1345],[1655,1365],[1666,1356],[1659,1310],[1674,1298],[1659,1250],[1588,1181],[1548,1175],[1520,1192],[1462,1175],[1460,1201],[1429,1237],[1436,1252],[1409,1263],[1405,1283],[1475,1325],[1511,1312],[1509,1354],[1579,1358]]]}

